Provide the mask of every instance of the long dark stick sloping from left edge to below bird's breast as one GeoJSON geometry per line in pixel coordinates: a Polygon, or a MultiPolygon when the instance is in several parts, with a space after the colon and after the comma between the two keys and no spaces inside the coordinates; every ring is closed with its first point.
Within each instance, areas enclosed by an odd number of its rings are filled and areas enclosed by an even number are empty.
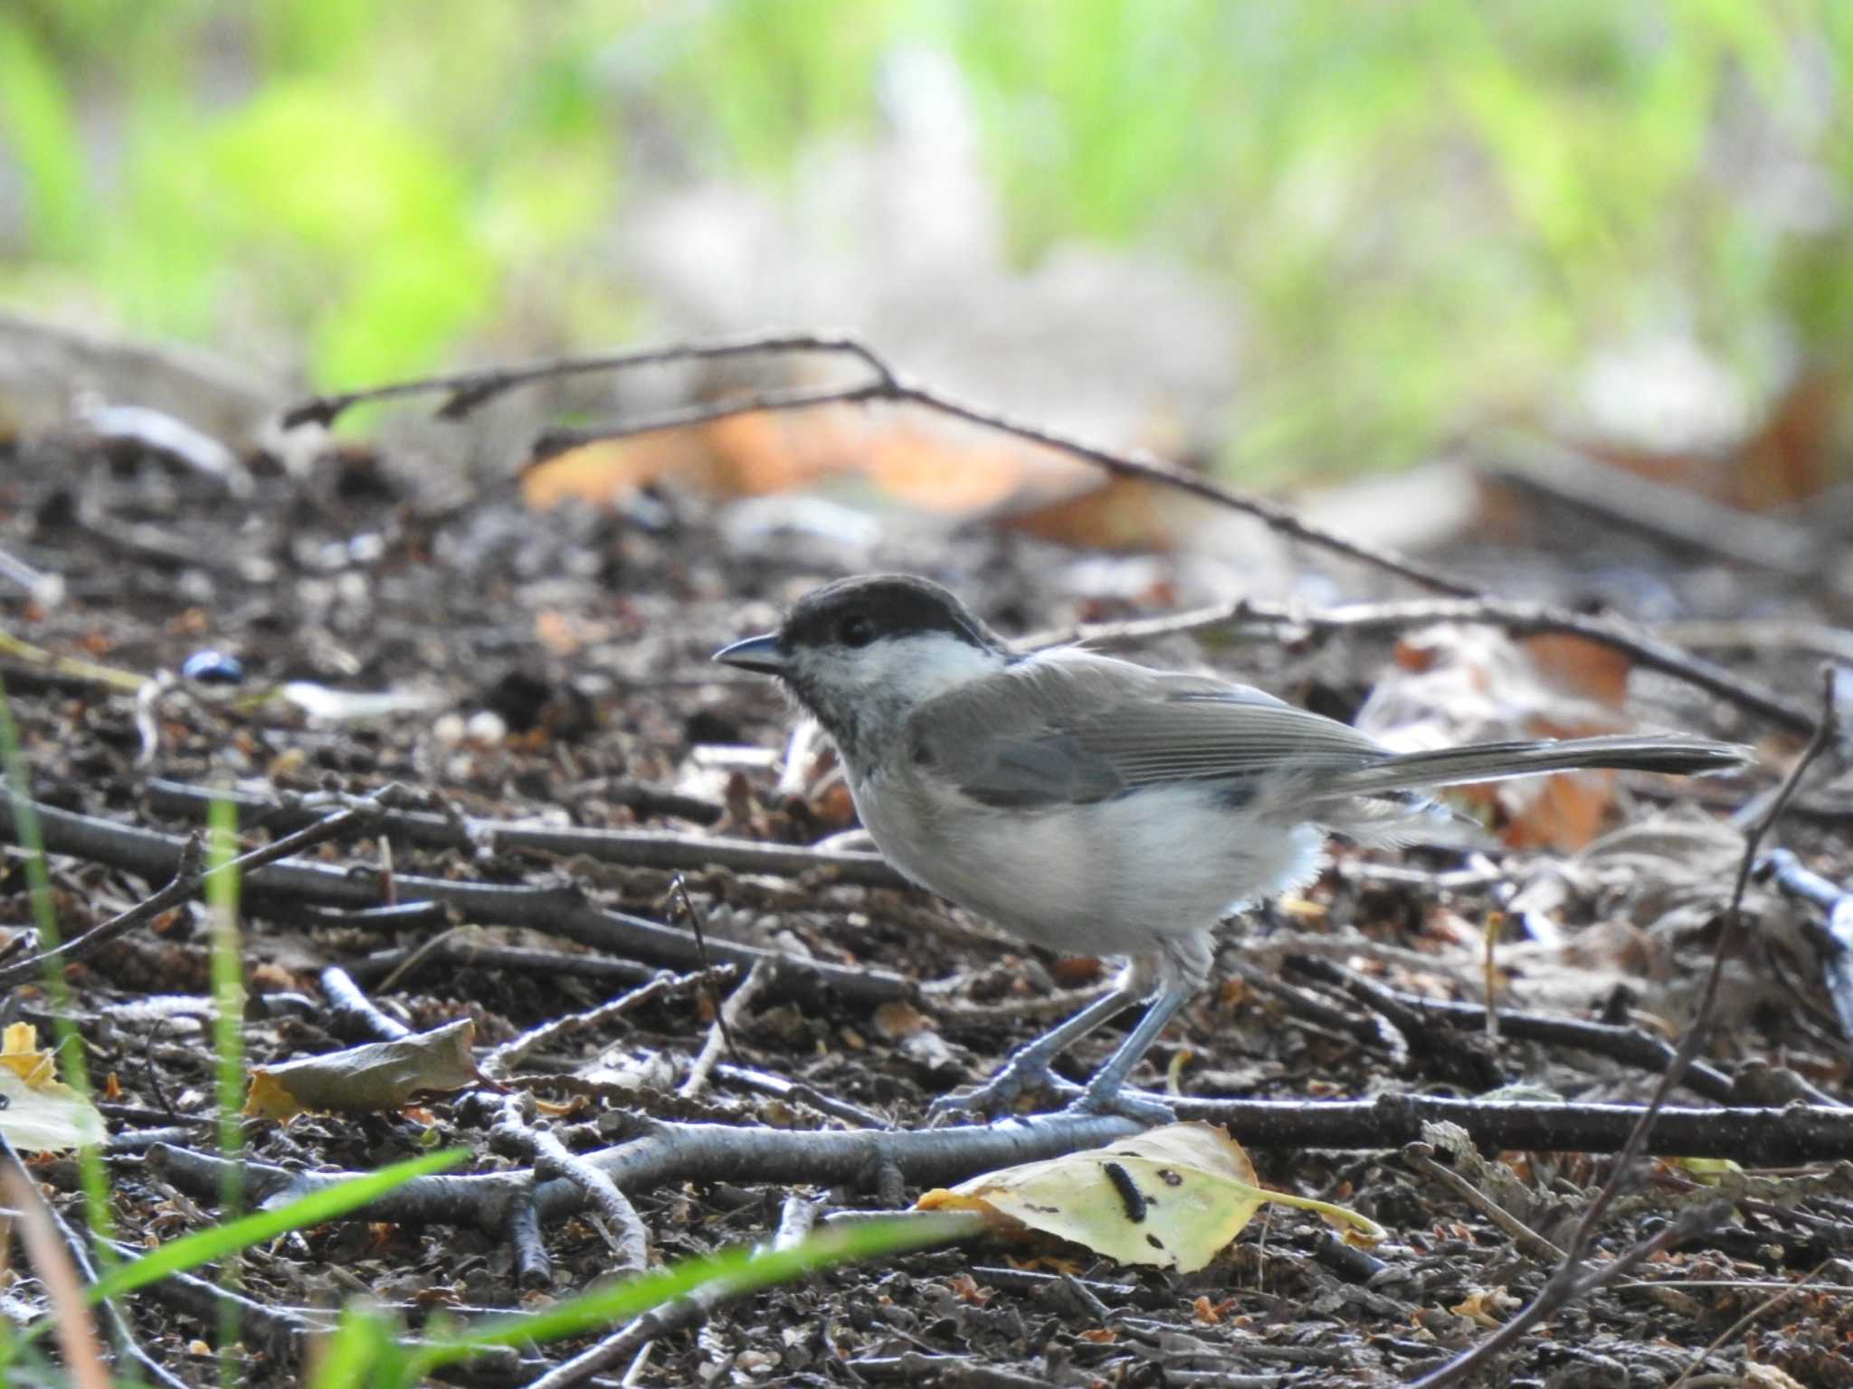
{"type": "MultiPolygon", "coordinates": [[[[35,811],[48,854],[96,859],[143,878],[172,874],[180,861],[183,841],[178,835],[76,815],[43,802],[35,804],[35,811]]],[[[19,826],[13,824],[11,804],[6,800],[0,800],[0,841],[19,841],[19,826]]],[[[380,904],[376,874],[354,872],[332,863],[304,863],[300,859],[271,863],[245,874],[243,885],[254,909],[274,900],[296,907],[306,902],[347,907],[380,904]]],[[[482,924],[530,926],[597,950],[678,969],[689,969],[697,963],[695,937],[687,932],[600,907],[574,885],[510,887],[467,878],[417,878],[411,874],[395,874],[393,885],[400,900],[447,902],[482,924]]],[[[756,959],[773,959],[780,967],[775,987],[799,998],[834,993],[854,1002],[886,1004],[908,998],[914,991],[906,980],[888,970],[799,959],[734,941],[712,941],[710,954],[747,967],[756,959]]]]}

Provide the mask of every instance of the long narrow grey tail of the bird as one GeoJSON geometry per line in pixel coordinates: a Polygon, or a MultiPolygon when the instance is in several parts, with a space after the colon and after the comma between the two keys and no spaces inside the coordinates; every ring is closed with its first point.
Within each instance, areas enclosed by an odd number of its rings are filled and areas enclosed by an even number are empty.
{"type": "Polygon", "coordinates": [[[1579,737],[1514,743],[1469,743],[1464,748],[1401,752],[1369,767],[1340,772],[1314,791],[1327,796],[1380,796],[1469,782],[1608,767],[1629,772],[1697,776],[1725,772],[1751,759],[1749,748],[1703,737],[1579,737]]]}

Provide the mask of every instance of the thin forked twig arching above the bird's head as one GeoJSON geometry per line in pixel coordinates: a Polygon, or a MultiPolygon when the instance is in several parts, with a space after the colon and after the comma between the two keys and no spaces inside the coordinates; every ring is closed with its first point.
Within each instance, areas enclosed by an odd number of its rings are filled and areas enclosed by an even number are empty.
{"type": "Polygon", "coordinates": [[[1418,583],[1434,593],[1451,593],[1458,596],[1468,596],[1475,593],[1471,583],[1458,580],[1451,574],[1442,572],[1431,565],[1423,565],[1416,559],[1392,554],[1358,541],[1345,539],[1334,532],[1316,526],[1303,517],[1295,515],[1288,507],[1277,506],[1258,496],[1245,496],[1221,487],[1206,478],[1199,478],[1191,472],[1158,459],[1147,452],[1123,452],[1114,448],[1103,448],[1099,444],[1075,439],[1073,435],[1058,433],[1054,430],[1043,430],[1034,424],[1012,419],[993,409],[984,409],[980,406],[971,406],[962,400],[954,400],[939,391],[934,391],[917,382],[906,380],[897,372],[878,352],[875,352],[867,343],[841,333],[773,333],[741,337],[721,343],[674,343],[662,348],[645,348],[639,352],[613,352],[599,357],[561,357],[556,361],[532,363],[528,367],[515,367],[504,370],[485,370],[485,372],[465,372],[460,376],[439,376],[422,382],[398,382],[393,385],[374,387],[372,391],[352,391],[337,396],[319,396],[308,400],[300,406],[284,413],[284,424],[306,424],[306,422],[332,422],[341,411],[350,406],[361,404],[365,400],[385,400],[393,396],[419,394],[445,391],[450,398],[439,409],[445,419],[460,419],[469,413],[484,400],[500,394],[517,385],[528,385],[539,380],[552,380],[561,376],[580,376],[587,372],[610,372],[610,370],[630,370],[636,367],[662,365],[671,361],[717,361],[725,357],[743,357],[743,356],[791,356],[791,354],[826,354],[849,357],[860,363],[869,372],[867,382],[823,387],[823,389],[797,389],[797,391],[758,391],[732,396],[728,400],[719,400],[712,404],[693,406],[687,409],[663,411],[649,419],[613,424],[604,428],[589,430],[554,430],[534,444],[534,457],[545,459],[554,454],[561,454],[569,448],[580,444],[597,443],[604,439],[626,439],[639,433],[654,433],[658,430],[676,430],[693,424],[708,424],[712,420],[730,419],[734,415],[754,415],[760,411],[784,411],[784,409],[813,409],[819,406],[854,406],[854,404],[906,404],[930,409],[938,415],[949,419],[964,420],[967,424],[977,424],[986,430],[995,430],[999,433],[1023,439],[1025,443],[1040,444],[1043,448],[1053,448],[1058,454],[1067,454],[1084,463],[1093,463],[1121,478],[1141,478],[1166,487],[1175,487],[1179,491],[1199,496],[1214,506],[1221,506],[1230,511],[1240,511],[1243,515],[1254,517],[1269,530],[1286,535],[1295,541],[1306,541],[1317,544],[1334,554],[1342,554],[1349,559],[1358,559],[1366,565],[1373,565],[1390,574],[1397,574],[1412,583],[1418,583]]]}

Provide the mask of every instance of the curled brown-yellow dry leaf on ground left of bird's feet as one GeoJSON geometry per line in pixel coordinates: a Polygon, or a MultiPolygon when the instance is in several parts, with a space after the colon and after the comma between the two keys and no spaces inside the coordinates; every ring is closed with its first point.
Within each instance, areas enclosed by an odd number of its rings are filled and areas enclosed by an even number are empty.
{"type": "Polygon", "coordinates": [[[295,1119],[311,1109],[363,1113],[397,1109],[421,1091],[456,1091],[484,1083],[471,1056],[476,1024],[458,1019],[432,1032],[389,1043],[348,1046],[274,1067],[256,1067],[245,1115],[295,1119]]]}

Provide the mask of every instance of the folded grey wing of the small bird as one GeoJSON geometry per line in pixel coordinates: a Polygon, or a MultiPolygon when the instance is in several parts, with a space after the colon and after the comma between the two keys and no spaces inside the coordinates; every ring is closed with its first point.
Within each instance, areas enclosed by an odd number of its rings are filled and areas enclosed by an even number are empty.
{"type": "Polygon", "coordinates": [[[1258,689],[1077,650],[1041,652],[928,700],[908,739],[915,763],[1010,807],[1273,772],[1316,785],[1388,756],[1366,733],[1258,689]]]}

